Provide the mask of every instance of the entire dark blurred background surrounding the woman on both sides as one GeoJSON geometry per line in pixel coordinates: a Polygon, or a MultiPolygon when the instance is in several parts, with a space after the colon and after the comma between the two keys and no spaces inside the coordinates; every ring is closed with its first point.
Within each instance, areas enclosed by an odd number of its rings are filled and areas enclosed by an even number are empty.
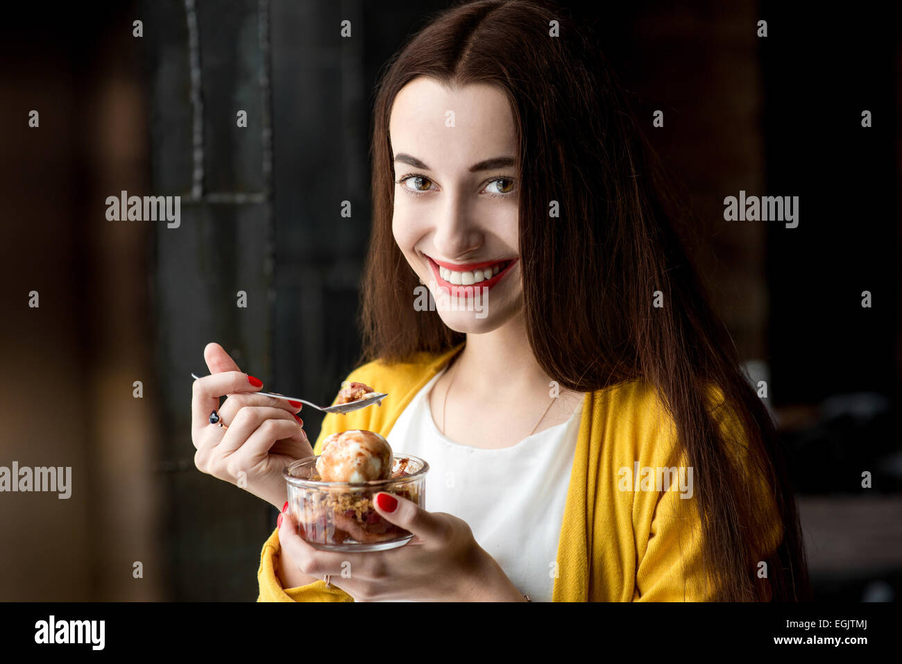
{"type": "MultiPolygon", "coordinates": [[[[682,182],[691,252],[768,382],[815,598],[896,600],[902,22],[861,3],[562,4],[682,182]],[[799,226],[723,221],[741,189],[798,196],[799,226]]],[[[256,598],[276,511],[194,467],[189,374],[217,341],[270,389],[334,398],[360,348],[373,87],[447,5],[6,8],[0,466],[71,466],[72,493],[0,493],[0,600],[256,598]],[[179,195],[180,226],[107,220],[123,190],[179,195]]]]}

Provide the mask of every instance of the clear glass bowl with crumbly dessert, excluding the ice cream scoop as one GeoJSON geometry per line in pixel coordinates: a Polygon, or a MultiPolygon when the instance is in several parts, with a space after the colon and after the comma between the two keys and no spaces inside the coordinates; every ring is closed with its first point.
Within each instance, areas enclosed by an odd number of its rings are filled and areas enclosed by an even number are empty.
{"type": "Polygon", "coordinates": [[[409,530],[382,519],[373,497],[384,491],[424,507],[428,463],[395,452],[392,477],[387,480],[323,482],[317,472],[318,458],[298,459],[284,471],[289,512],[302,539],[327,551],[382,551],[401,547],[413,538],[409,530]]]}

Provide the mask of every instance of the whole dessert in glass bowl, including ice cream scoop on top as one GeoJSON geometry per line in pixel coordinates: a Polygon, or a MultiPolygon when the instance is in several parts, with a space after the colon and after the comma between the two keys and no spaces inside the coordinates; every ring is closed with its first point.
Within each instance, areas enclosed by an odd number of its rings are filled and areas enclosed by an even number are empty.
{"type": "Polygon", "coordinates": [[[428,464],[392,452],[378,433],[351,429],[323,441],[318,457],[299,459],[285,469],[291,517],[298,533],[317,549],[379,551],[412,537],[382,518],[376,493],[394,493],[425,505],[428,464]]]}

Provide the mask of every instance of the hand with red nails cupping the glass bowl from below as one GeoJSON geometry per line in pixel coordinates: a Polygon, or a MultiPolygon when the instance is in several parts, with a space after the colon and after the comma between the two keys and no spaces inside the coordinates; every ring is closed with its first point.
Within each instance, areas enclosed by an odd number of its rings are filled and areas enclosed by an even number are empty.
{"type": "Polygon", "coordinates": [[[498,563],[476,543],[465,521],[444,512],[427,512],[392,493],[377,493],[373,503],[383,519],[410,530],[413,539],[387,551],[322,551],[300,538],[295,521],[283,511],[279,527],[283,587],[305,585],[329,574],[329,584],[356,602],[525,601],[498,563]]]}

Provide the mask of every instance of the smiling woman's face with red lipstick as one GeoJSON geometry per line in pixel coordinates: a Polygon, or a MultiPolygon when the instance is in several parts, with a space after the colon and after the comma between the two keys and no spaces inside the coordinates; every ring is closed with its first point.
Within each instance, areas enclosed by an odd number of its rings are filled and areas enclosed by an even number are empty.
{"type": "Polygon", "coordinates": [[[488,85],[452,90],[415,78],[395,97],[389,132],[395,242],[448,327],[481,334],[502,326],[523,298],[507,98],[488,85]]]}

